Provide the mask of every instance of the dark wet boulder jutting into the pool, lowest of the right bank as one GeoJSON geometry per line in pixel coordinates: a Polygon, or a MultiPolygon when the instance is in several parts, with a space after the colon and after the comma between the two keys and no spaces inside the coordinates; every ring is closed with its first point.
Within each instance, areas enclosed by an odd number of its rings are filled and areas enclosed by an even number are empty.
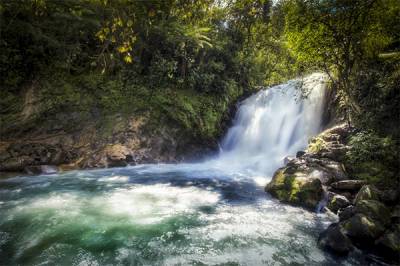
{"type": "Polygon", "coordinates": [[[338,223],[331,224],[319,235],[318,246],[338,255],[347,255],[353,249],[351,240],[338,223]]]}

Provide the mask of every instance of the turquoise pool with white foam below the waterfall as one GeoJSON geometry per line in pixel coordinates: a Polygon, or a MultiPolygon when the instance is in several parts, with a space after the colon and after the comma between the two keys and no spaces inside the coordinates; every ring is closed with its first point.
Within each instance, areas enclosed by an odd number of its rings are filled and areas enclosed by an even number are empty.
{"type": "Polygon", "coordinates": [[[366,265],[317,248],[333,218],[205,164],[0,179],[0,265],[366,265]]]}

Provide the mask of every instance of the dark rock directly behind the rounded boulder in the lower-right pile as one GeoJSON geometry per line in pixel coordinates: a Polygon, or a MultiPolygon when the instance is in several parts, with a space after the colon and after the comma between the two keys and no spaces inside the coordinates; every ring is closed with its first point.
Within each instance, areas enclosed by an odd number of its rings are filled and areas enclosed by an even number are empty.
{"type": "Polygon", "coordinates": [[[390,222],[390,211],[381,202],[376,200],[360,200],[354,208],[355,213],[366,215],[368,218],[374,219],[387,225],[390,222]]]}

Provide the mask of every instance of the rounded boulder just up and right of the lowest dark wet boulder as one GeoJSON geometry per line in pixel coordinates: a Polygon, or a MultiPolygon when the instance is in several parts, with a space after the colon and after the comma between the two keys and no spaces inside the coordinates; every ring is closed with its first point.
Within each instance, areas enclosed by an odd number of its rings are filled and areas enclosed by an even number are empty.
{"type": "Polygon", "coordinates": [[[362,213],[356,213],[341,224],[345,234],[363,246],[371,244],[385,231],[385,227],[379,221],[362,213]]]}

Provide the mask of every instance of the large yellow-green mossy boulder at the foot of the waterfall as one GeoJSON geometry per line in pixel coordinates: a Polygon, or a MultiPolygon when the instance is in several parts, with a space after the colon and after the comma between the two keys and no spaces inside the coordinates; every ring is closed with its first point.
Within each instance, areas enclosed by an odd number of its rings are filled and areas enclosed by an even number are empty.
{"type": "Polygon", "coordinates": [[[304,173],[288,174],[284,170],[275,172],[265,191],[282,202],[315,210],[323,195],[321,181],[304,173]]]}

